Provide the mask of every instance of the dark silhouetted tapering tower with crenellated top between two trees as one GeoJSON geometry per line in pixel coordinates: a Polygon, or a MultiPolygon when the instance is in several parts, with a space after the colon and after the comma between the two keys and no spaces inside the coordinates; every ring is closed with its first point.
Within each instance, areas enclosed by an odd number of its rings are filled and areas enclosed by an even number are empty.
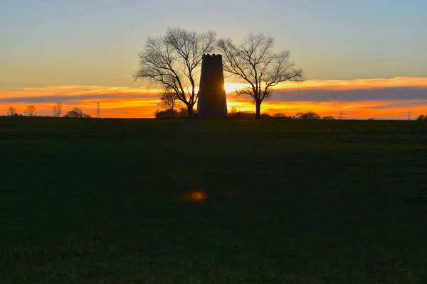
{"type": "Polygon", "coordinates": [[[201,60],[197,116],[228,116],[221,55],[204,54],[201,60]]]}

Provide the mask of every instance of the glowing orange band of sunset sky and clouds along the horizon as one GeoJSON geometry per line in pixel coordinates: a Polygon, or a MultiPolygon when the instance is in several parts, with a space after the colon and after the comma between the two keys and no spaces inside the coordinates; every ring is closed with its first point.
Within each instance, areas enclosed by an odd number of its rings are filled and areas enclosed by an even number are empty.
{"type": "MultiPolygon", "coordinates": [[[[236,97],[233,90],[243,84],[226,83],[228,109],[255,111],[248,97],[236,97]]],[[[298,111],[316,111],[321,116],[349,119],[407,119],[427,114],[427,77],[396,77],[367,80],[309,80],[284,83],[275,88],[271,99],[262,104],[262,112],[294,115],[298,111]]],[[[51,115],[55,102],[63,110],[80,107],[95,116],[100,102],[101,117],[153,117],[159,90],[145,87],[48,86],[0,90],[0,115],[9,107],[23,113],[26,105],[37,107],[39,115],[51,115]]]]}

